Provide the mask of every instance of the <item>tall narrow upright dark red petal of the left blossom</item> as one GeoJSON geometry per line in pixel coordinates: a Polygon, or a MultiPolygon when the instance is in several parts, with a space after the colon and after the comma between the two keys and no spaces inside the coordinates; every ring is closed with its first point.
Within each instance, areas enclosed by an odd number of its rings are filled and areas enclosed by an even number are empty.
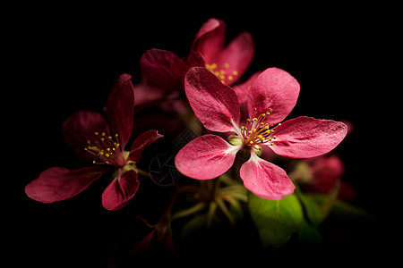
{"type": "Polygon", "coordinates": [[[119,76],[107,97],[107,122],[111,134],[119,135],[122,148],[129,141],[133,130],[134,87],[130,79],[129,74],[119,76]]]}

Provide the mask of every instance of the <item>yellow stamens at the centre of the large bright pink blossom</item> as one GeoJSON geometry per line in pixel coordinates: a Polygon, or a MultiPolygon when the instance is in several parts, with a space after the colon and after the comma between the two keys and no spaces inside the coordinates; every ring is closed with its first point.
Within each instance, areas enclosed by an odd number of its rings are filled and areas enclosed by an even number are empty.
{"type": "MultiPolygon", "coordinates": [[[[256,111],[256,108],[253,108],[256,111]]],[[[252,147],[254,150],[261,151],[261,145],[273,146],[276,136],[271,136],[281,123],[270,128],[269,123],[263,122],[270,113],[262,113],[253,119],[246,119],[246,125],[241,127],[241,134],[244,138],[244,146],[252,147]]]]}

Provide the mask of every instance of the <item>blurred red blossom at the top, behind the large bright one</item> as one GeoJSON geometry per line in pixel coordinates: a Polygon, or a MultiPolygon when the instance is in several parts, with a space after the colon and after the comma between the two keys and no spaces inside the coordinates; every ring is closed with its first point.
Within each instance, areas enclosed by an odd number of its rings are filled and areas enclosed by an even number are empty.
{"type": "Polygon", "coordinates": [[[183,92],[184,76],[193,67],[206,67],[227,85],[236,82],[252,62],[253,38],[248,32],[242,32],[224,46],[226,29],[224,21],[212,18],[205,22],[184,60],[173,52],[156,48],[142,54],[141,72],[149,86],[136,85],[136,92],[148,95],[150,88],[158,91],[155,98],[147,98],[150,103],[160,101],[161,96],[169,98],[171,94],[183,92]]]}

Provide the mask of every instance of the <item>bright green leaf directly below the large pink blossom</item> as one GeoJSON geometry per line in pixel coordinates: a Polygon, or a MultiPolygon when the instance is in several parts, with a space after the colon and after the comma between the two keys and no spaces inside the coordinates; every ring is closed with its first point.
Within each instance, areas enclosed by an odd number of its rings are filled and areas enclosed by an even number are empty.
{"type": "Polygon", "coordinates": [[[281,200],[269,200],[249,193],[249,212],[259,231],[262,247],[279,248],[301,226],[304,214],[295,194],[281,200]]]}

